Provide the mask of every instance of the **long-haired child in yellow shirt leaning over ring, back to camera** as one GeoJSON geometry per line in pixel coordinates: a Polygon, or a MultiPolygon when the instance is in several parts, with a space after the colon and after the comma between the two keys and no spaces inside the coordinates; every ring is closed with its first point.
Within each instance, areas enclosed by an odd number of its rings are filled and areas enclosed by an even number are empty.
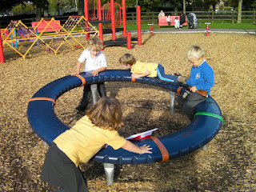
{"type": "Polygon", "coordinates": [[[116,98],[101,98],[86,116],[54,139],[46,153],[41,179],[62,191],[88,191],[79,164],[88,162],[105,144],[138,154],[151,154],[150,146],[136,146],[122,138],[123,126],[120,102],[116,98]]]}

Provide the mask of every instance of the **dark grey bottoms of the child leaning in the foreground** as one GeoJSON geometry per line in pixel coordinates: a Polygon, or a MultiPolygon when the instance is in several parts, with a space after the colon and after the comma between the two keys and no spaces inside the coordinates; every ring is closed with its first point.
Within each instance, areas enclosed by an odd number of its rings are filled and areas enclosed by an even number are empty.
{"type": "Polygon", "coordinates": [[[46,159],[42,166],[42,181],[49,186],[59,187],[56,191],[87,192],[86,181],[82,171],[58,149],[53,142],[46,153],[46,159]]]}

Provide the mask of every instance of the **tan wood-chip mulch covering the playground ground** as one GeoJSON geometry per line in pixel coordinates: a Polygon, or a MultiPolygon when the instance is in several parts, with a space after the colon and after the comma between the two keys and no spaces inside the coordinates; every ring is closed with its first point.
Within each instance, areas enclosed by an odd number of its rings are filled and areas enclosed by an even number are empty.
{"type": "MultiPolygon", "coordinates": [[[[110,38],[110,37],[106,37],[110,38]]],[[[222,110],[224,125],[209,143],[168,162],[115,166],[115,181],[106,184],[103,166],[98,162],[82,165],[90,191],[255,191],[256,190],[256,37],[250,34],[142,34],[142,46],[106,47],[109,69],[120,69],[118,58],[134,54],[142,62],[161,63],[166,73],[190,74],[186,50],[203,46],[206,60],[214,69],[211,96],[222,110]]],[[[63,46],[55,56],[34,46],[26,60],[4,49],[6,63],[0,65],[0,191],[51,191],[40,181],[47,146],[43,146],[26,118],[26,107],[34,93],[47,83],[75,70],[82,50],[63,46]]],[[[107,95],[122,102],[130,134],[158,128],[161,137],[188,125],[190,121],[176,107],[170,115],[169,93],[158,87],[106,82],[107,95]]],[[[58,98],[54,108],[68,126],[82,117],[74,109],[82,98],[82,88],[58,98]]]]}

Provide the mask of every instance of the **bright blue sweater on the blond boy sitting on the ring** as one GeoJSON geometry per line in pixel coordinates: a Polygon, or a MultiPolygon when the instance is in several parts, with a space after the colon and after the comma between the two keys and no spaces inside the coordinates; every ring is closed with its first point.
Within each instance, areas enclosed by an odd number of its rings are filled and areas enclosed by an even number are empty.
{"type": "Polygon", "coordinates": [[[210,88],[214,86],[214,70],[204,61],[201,66],[192,66],[190,78],[186,81],[189,86],[196,86],[197,90],[206,90],[210,94],[210,88]]]}

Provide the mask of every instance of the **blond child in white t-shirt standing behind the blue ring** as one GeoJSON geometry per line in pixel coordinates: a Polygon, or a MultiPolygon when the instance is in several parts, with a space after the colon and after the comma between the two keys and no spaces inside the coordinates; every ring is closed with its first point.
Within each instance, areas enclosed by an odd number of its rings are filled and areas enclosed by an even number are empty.
{"type": "MultiPolygon", "coordinates": [[[[77,70],[71,75],[80,73],[80,68],[83,62],[86,62],[84,72],[90,73],[92,76],[98,76],[98,72],[106,70],[106,56],[102,53],[102,42],[99,38],[91,38],[89,40],[90,47],[82,52],[77,62],[77,70]]],[[[101,97],[106,97],[106,87],[104,82],[97,83],[98,94],[101,97]]],[[[85,85],[83,90],[83,97],[80,105],[75,109],[78,111],[86,110],[90,100],[91,90],[90,85],[85,85]]]]}

